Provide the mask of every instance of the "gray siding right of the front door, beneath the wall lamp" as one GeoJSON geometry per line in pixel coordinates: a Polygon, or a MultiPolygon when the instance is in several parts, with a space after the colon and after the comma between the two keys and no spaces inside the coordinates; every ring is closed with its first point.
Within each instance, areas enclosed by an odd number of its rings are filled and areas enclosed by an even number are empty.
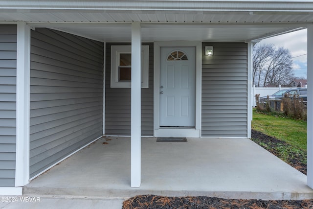
{"type": "Polygon", "coordinates": [[[247,137],[247,45],[202,43],[202,53],[202,137],[247,137]]]}

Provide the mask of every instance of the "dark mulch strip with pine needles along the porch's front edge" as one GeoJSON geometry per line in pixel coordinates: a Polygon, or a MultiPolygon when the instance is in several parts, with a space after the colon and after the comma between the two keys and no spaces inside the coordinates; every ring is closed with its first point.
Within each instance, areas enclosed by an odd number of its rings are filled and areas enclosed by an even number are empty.
{"type": "Polygon", "coordinates": [[[236,200],[217,197],[140,195],[126,200],[123,209],[312,209],[313,200],[236,200]]]}

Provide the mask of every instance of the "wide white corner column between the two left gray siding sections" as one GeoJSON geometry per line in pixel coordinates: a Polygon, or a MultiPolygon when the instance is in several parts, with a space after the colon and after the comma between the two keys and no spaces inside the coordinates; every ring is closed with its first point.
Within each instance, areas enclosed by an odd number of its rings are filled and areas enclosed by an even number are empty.
{"type": "Polygon", "coordinates": [[[16,62],[15,186],[24,186],[29,180],[30,27],[23,22],[17,26],[16,62]]]}

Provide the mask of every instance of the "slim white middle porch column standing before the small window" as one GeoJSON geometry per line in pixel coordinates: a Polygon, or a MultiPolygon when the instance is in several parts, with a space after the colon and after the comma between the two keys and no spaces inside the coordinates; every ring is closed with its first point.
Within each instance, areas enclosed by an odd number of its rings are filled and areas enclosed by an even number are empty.
{"type": "Polygon", "coordinates": [[[141,184],[141,28],[132,23],[131,186],[141,184]]]}

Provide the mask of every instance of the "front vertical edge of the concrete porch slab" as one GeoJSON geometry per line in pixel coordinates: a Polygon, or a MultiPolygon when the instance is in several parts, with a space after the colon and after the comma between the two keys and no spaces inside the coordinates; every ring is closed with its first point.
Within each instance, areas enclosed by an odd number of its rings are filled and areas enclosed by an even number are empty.
{"type": "Polygon", "coordinates": [[[161,196],[208,196],[226,199],[262,199],[262,200],[305,200],[313,199],[313,192],[262,192],[262,191],[174,191],[174,190],[149,190],[149,189],[105,189],[105,188],[53,188],[53,187],[23,187],[25,196],[65,197],[103,199],[116,198],[128,199],[136,195],[161,195],[161,196]]]}

